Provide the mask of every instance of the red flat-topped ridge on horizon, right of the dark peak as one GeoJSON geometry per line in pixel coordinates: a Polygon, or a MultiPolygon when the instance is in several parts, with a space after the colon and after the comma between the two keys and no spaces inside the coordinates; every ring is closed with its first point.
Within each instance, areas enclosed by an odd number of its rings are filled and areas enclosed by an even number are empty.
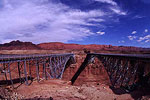
{"type": "Polygon", "coordinates": [[[41,43],[38,46],[45,50],[90,50],[94,52],[109,51],[116,53],[150,53],[150,48],[132,47],[132,46],[112,46],[112,45],[79,45],[65,44],[60,42],[41,43]]]}

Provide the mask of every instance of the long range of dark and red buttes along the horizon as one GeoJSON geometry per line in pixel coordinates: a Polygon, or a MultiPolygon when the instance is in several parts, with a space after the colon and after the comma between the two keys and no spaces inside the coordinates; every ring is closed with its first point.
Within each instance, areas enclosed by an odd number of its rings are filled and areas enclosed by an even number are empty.
{"type": "Polygon", "coordinates": [[[150,48],[140,48],[132,46],[112,46],[112,45],[80,45],[65,44],[61,42],[50,42],[33,44],[32,42],[12,41],[10,43],[0,44],[0,50],[103,50],[103,51],[123,51],[123,52],[150,52],[150,48]]]}

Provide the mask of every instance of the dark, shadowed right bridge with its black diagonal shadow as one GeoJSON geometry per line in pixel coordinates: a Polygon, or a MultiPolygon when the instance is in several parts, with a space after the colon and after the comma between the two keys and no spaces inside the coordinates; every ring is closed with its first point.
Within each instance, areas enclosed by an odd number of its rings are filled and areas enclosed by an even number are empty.
{"type": "Polygon", "coordinates": [[[95,58],[98,58],[103,64],[112,88],[124,87],[130,90],[137,85],[150,84],[150,54],[105,53],[88,53],[84,62],[72,77],[72,84],[95,58]]]}

